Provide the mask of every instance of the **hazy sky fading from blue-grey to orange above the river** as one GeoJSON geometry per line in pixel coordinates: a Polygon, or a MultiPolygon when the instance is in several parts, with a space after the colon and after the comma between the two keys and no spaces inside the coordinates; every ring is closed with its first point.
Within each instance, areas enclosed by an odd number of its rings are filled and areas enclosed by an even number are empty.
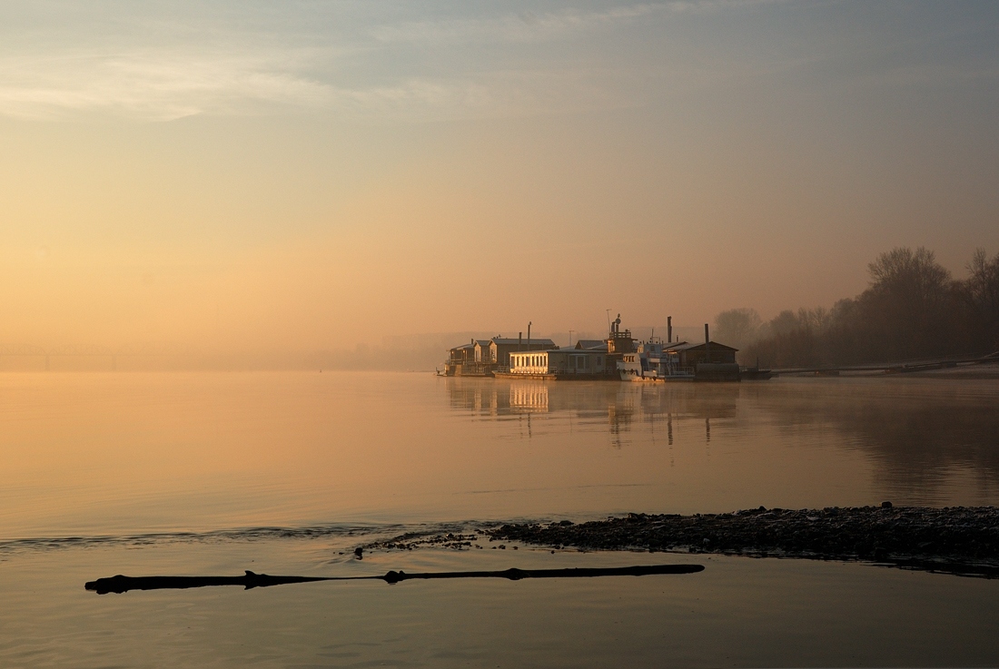
{"type": "Polygon", "coordinates": [[[0,342],[830,306],[999,252],[999,3],[4,2],[0,342]]]}

